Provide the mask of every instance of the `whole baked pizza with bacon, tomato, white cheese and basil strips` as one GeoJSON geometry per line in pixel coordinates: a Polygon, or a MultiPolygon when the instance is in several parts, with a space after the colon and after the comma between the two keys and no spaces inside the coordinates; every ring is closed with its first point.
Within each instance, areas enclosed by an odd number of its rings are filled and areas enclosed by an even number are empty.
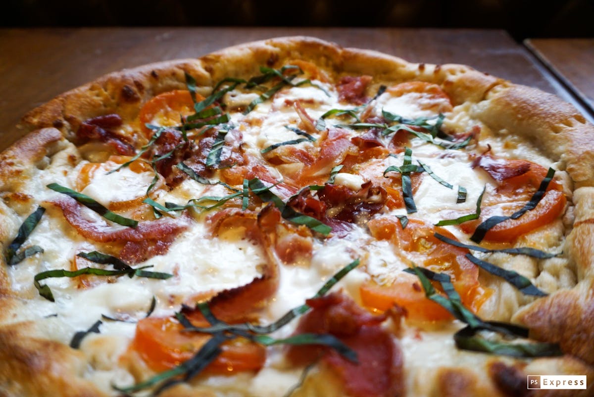
{"type": "Polygon", "coordinates": [[[594,127],[552,94],[287,37],[21,125],[1,395],[592,393],[594,127]]]}

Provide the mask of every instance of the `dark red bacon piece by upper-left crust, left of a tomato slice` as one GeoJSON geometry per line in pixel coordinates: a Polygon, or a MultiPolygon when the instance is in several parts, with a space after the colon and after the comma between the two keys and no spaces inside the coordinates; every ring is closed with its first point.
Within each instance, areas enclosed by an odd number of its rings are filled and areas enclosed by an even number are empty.
{"type": "Polygon", "coordinates": [[[111,146],[117,153],[125,156],[134,154],[134,147],[126,139],[113,132],[113,128],[122,125],[122,118],[117,114],[109,114],[90,118],[78,127],[77,138],[84,143],[89,140],[98,140],[111,146]]]}

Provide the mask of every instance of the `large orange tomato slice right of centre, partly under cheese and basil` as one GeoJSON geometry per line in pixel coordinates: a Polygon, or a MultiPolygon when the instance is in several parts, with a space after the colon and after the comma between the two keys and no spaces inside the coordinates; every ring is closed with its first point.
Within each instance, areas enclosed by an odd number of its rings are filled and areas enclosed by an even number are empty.
{"type": "MultiPolygon", "coordinates": [[[[402,229],[396,217],[372,219],[368,226],[373,237],[391,241],[395,250],[405,251],[407,257],[419,266],[450,275],[462,303],[475,311],[480,308],[485,291],[478,282],[478,267],[465,257],[469,251],[434,237],[434,233],[438,232],[455,239],[450,232],[416,219],[409,219],[406,228],[402,229]]],[[[407,273],[398,275],[391,285],[380,286],[375,282],[366,282],[361,286],[360,292],[366,306],[387,310],[397,304],[406,308],[410,320],[438,321],[453,318],[443,307],[426,298],[418,278],[407,273]]]]}

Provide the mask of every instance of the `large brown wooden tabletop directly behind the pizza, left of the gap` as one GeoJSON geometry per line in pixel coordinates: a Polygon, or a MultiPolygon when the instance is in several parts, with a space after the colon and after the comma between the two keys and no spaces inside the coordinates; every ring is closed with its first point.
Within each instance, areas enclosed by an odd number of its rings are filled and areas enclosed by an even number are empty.
{"type": "Polygon", "coordinates": [[[0,150],[22,132],[30,109],[105,73],[192,58],[225,46],[291,35],[316,36],[408,61],[457,62],[575,102],[571,93],[502,30],[347,28],[0,29],[0,150]]]}

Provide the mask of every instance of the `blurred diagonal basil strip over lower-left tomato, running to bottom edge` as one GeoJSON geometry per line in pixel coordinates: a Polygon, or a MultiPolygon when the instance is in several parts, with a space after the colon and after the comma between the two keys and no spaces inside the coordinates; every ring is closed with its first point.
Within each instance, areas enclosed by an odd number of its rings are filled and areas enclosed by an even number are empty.
{"type": "Polygon", "coordinates": [[[157,374],[156,376],[153,376],[144,382],[137,383],[134,386],[118,387],[112,385],[112,387],[113,389],[118,390],[118,392],[129,394],[138,392],[139,390],[148,389],[149,387],[153,387],[161,382],[167,381],[160,385],[152,393],[153,396],[156,396],[167,387],[173,386],[176,383],[184,382],[185,380],[190,379],[192,377],[191,375],[200,373],[200,371],[206,368],[208,364],[214,361],[214,359],[217,358],[217,356],[222,352],[220,345],[226,340],[228,340],[226,336],[222,334],[216,334],[210,338],[208,342],[204,344],[204,346],[202,346],[202,348],[194,355],[194,357],[190,358],[188,361],[184,361],[184,363],[179,364],[179,366],[174,367],[169,371],[157,374]],[[181,379],[173,379],[182,375],[183,377],[181,379]]]}

